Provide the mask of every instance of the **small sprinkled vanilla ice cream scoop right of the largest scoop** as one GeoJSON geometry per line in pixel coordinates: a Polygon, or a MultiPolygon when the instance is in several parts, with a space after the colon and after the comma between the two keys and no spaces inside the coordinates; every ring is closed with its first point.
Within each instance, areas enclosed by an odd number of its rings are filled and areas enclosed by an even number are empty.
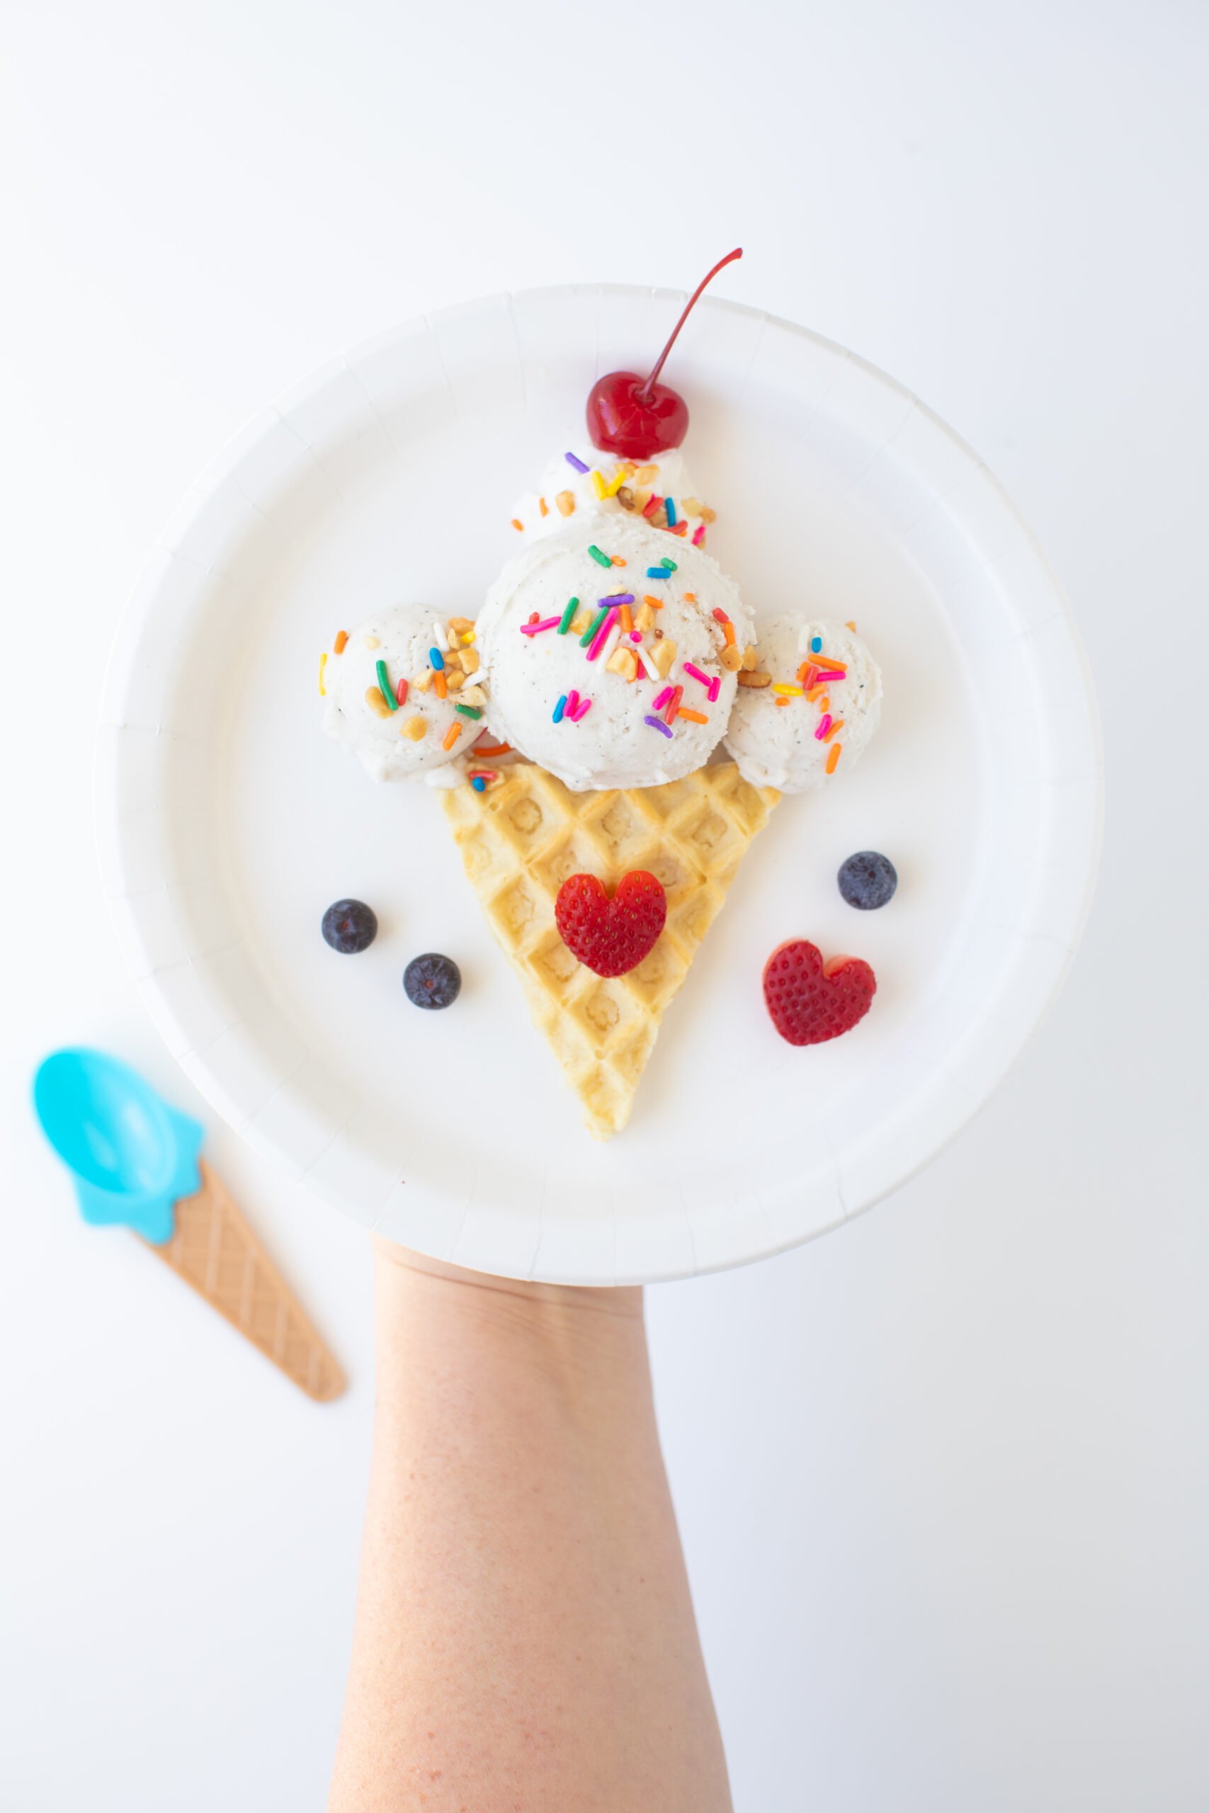
{"type": "Polygon", "coordinates": [[[772,618],[741,678],[727,749],[752,787],[821,787],[852,767],[881,718],[881,673],[845,624],[772,618]]]}

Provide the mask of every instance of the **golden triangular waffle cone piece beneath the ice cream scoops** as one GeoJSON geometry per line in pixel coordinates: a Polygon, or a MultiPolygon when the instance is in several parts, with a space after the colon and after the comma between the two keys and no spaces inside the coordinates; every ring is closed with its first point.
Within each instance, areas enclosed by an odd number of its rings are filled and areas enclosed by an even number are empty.
{"type": "Polygon", "coordinates": [[[732,761],[665,787],[582,794],[517,763],[488,792],[440,792],[466,874],[596,1139],[629,1120],[663,1010],[779,798],[732,761]],[[567,876],[613,890],[631,868],[663,883],[667,925],[638,968],[600,977],[562,943],[555,899],[567,876]]]}

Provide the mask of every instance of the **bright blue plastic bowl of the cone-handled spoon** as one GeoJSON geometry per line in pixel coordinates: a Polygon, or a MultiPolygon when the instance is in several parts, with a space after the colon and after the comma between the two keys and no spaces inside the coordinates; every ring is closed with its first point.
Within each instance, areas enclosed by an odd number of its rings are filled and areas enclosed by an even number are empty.
{"type": "Polygon", "coordinates": [[[163,1246],[174,1206],[201,1188],[201,1126],[169,1108],[105,1052],[53,1052],[34,1077],[34,1113],[73,1175],[85,1222],[121,1222],[163,1246]]]}

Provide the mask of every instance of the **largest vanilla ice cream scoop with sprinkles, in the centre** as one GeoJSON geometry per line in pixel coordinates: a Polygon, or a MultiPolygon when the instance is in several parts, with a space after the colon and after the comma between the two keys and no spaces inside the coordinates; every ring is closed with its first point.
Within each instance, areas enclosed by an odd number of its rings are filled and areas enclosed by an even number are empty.
{"type": "Polygon", "coordinates": [[[700,769],[752,642],[738,586],[711,555],[598,513],[515,555],[477,629],[493,734],[575,792],[700,769]]]}

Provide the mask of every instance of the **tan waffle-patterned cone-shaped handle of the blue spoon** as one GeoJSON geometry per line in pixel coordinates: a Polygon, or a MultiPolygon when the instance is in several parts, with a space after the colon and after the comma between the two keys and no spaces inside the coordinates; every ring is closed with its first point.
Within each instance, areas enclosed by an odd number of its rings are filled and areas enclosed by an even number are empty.
{"type": "Polygon", "coordinates": [[[192,1284],[308,1398],[330,1403],[344,1391],[344,1374],[225,1186],[201,1159],[198,1171],[201,1189],[176,1204],[172,1238],[143,1246],[192,1284]]]}

